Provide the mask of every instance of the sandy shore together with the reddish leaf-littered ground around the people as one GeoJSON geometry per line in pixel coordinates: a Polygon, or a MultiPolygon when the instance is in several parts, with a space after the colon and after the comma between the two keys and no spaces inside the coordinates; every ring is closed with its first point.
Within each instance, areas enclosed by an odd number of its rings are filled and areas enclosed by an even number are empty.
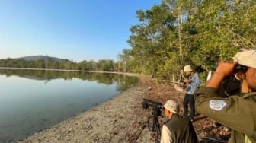
{"type": "MultiPolygon", "coordinates": [[[[158,103],[165,103],[166,100],[171,99],[176,100],[181,106],[184,93],[175,90],[170,84],[159,84],[153,78],[140,79],[138,84],[119,96],[19,142],[155,142],[156,132],[149,131],[149,128],[145,127],[152,114],[152,108],[143,109],[142,99],[146,98],[158,103]]],[[[181,106],[181,114],[182,112],[181,106]]],[[[158,117],[161,126],[165,120],[161,116],[158,117]]],[[[149,125],[152,126],[152,120],[149,125]]],[[[205,116],[197,114],[193,125],[200,142],[215,142],[203,137],[222,141],[229,138],[229,131],[225,127],[213,128],[213,120],[205,116]]]]}

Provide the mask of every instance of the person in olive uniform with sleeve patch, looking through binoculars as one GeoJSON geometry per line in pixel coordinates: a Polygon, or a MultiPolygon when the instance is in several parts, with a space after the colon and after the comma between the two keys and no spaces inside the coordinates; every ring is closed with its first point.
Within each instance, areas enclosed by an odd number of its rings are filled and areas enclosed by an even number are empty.
{"type": "Polygon", "coordinates": [[[212,78],[196,91],[198,113],[221,123],[231,131],[229,142],[256,142],[256,50],[238,52],[231,62],[219,62],[212,78]],[[233,75],[240,79],[240,92],[229,97],[218,93],[222,81],[233,75]]]}

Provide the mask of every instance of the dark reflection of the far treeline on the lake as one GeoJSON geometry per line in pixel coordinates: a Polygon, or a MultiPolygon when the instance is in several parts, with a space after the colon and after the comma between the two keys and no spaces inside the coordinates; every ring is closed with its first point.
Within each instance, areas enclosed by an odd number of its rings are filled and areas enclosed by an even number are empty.
{"type": "Polygon", "coordinates": [[[138,78],[130,77],[126,75],[107,74],[107,73],[94,73],[94,72],[75,72],[75,71],[46,71],[46,70],[11,70],[0,69],[0,75],[6,75],[7,77],[17,75],[21,78],[28,78],[34,80],[44,81],[45,84],[54,79],[72,80],[72,78],[79,78],[86,81],[97,81],[101,84],[113,84],[117,83],[118,91],[125,91],[130,84],[134,84],[138,81],[138,78]]]}

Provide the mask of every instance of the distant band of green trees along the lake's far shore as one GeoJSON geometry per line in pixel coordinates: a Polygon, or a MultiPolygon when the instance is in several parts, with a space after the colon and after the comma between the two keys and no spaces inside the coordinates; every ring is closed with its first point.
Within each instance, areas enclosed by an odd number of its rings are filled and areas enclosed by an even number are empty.
{"type": "Polygon", "coordinates": [[[11,68],[46,68],[46,69],[69,69],[85,71],[118,71],[117,63],[110,59],[101,59],[98,62],[82,61],[74,62],[69,59],[0,59],[0,67],[11,68]]]}

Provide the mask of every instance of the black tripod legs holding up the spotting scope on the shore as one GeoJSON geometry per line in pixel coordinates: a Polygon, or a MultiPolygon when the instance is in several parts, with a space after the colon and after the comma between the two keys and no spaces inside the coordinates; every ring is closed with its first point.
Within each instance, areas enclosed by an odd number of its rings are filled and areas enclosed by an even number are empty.
{"type": "MultiPolygon", "coordinates": [[[[143,129],[145,129],[146,126],[148,126],[149,131],[156,132],[156,139],[155,143],[158,143],[159,137],[161,137],[161,129],[160,124],[158,122],[158,116],[161,115],[161,110],[159,110],[158,107],[152,108],[152,114],[148,117],[148,120],[144,126],[142,126],[141,132],[139,132],[139,135],[142,133],[143,129]],[[149,125],[149,121],[153,119],[152,126],[149,125]]],[[[139,135],[137,136],[136,140],[139,138],[139,135]]]]}

